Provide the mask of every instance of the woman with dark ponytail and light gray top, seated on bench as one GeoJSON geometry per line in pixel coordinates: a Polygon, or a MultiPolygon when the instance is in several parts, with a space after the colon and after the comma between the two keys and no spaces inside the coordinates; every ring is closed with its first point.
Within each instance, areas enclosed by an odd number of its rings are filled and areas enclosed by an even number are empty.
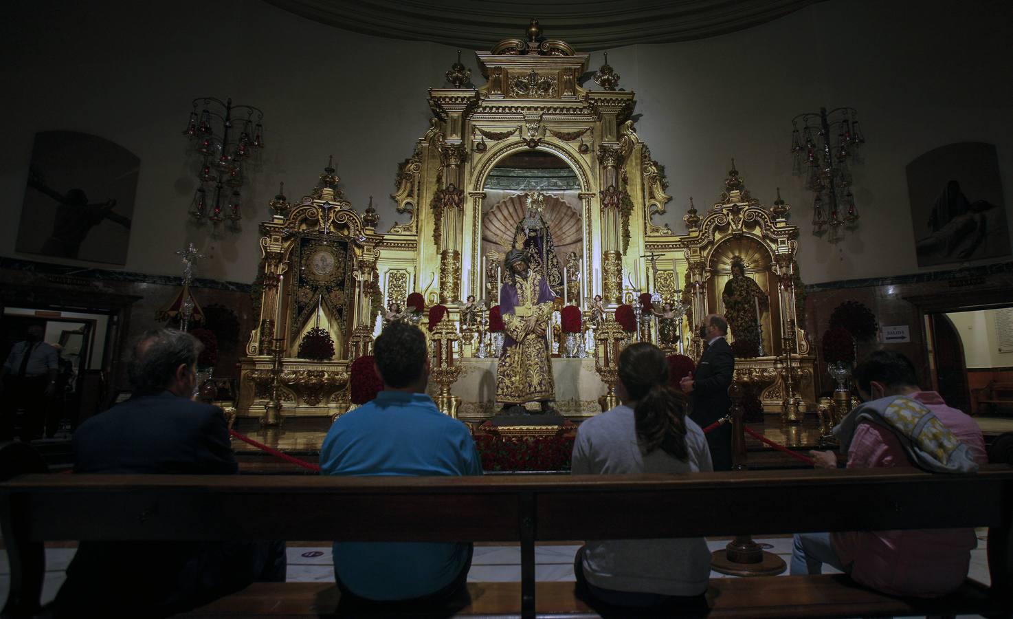
{"type": "MultiPolygon", "coordinates": [[[[703,431],[687,416],[683,394],[669,386],[657,346],[623,350],[616,392],[622,404],[580,423],[574,475],[713,470],[703,431]]],[[[612,606],[707,609],[710,552],[700,537],[590,541],[573,570],[579,590],[612,606]]]]}

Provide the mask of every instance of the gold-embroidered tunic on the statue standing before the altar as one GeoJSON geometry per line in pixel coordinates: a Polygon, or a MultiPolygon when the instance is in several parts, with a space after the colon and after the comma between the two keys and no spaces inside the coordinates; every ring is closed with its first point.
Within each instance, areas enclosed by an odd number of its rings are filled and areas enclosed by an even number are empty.
{"type": "Polygon", "coordinates": [[[548,283],[534,269],[529,269],[525,276],[515,276],[515,284],[503,284],[499,290],[505,337],[496,365],[497,402],[524,404],[555,398],[545,339],[553,298],[548,283]],[[528,316],[535,316],[537,322],[531,333],[525,333],[528,316]]]}

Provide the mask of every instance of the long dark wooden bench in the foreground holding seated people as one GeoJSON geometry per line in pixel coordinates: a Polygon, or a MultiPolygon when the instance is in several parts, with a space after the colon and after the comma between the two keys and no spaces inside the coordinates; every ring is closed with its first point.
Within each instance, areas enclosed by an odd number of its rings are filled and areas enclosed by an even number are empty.
{"type": "MultiPolygon", "coordinates": [[[[572,583],[535,584],[540,541],[811,531],[990,528],[992,587],[945,598],[868,591],[843,575],[714,578],[709,617],[1010,616],[1013,468],[791,470],[685,476],[307,477],[57,475],[30,448],[0,448],[6,612],[38,605],[50,540],[488,541],[521,546],[520,584],[471,584],[439,616],[599,616],[572,583]],[[32,457],[35,460],[32,460],[32,457]]],[[[333,584],[257,584],[188,617],[337,613],[333,584]]],[[[410,612],[409,616],[423,616],[410,612]]]]}

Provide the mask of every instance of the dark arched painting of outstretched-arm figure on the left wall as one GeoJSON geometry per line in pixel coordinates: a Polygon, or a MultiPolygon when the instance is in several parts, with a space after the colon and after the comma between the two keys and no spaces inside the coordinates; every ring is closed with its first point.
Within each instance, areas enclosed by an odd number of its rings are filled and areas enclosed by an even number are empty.
{"type": "Polygon", "coordinates": [[[17,251],[126,264],[140,165],[134,153],[98,136],[35,134],[17,251]]]}

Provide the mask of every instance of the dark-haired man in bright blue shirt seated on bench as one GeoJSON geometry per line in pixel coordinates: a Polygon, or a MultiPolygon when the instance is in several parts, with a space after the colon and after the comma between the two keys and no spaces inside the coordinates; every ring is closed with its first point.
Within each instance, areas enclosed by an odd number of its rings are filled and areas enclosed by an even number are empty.
{"type": "MultiPolygon", "coordinates": [[[[393,322],[373,346],[384,390],[341,415],[320,449],[325,475],[481,475],[467,427],[437,408],[425,335],[393,322]]],[[[342,595],[375,602],[440,602],[461,589],[471,567],[466,543],[335,542],[342,595]]]]}

